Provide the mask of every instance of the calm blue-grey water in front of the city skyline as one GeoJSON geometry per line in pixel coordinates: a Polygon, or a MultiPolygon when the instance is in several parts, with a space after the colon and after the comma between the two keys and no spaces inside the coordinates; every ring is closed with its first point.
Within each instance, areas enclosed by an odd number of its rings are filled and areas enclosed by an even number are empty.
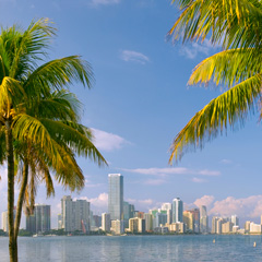
{"type": "MultiPolygon", "coordinates": [[[[126,236],[19,238],[20,262],[262,261],[261,236],[126,236]],[[213,243],[213,239],[216,242],[213,243]],[[257,248],[253,248],[253,242],[257,248]]],[[[0,238],[8,262],[8,238],[0,238]]]]}

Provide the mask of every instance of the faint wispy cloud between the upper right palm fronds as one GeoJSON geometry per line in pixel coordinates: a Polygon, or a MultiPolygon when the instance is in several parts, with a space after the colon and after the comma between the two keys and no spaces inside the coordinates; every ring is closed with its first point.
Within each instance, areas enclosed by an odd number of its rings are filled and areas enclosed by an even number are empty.
{"type": "Polygon", "coordinates": [[[203,43],[193,43],[181,48],[180,53],[189,59],[194,59],[199,53],[209,55],[210,50],[214,48],[210,40],[204,39],[203,43]]]}

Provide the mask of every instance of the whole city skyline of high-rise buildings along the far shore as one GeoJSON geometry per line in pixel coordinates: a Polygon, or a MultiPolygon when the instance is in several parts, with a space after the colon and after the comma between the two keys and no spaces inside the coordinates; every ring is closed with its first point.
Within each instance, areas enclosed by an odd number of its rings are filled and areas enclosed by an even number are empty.
{"type": "MultiPolygon", "coordinates": [[[[160,207],[147,211],[135,209],[133,204],[124,201],[123,176],[121,174],[108,174],[108,209],[100,216],[91,210],[91,203],[83,199],[72,199],[63,195],[61,199],[61,211],[57,214],[57,227],[51,226],[51,206],[47,204],[35,204],[34,213],[26,216],[25,229],[31,234],[49,233],[50,229],[63,229],[66,233],[83,231],[88,234],[94,228],[100,227],[105,231],[123,234],[129,231],[156,231],[156,233],[201,233],[201,234],[228,234],[228,233],[262,233],[262,214],[260,224],[253,221],[245,221],[243,228],[240,227],[239,217],[209,216],[205,205],[198,209],[184,209],[180,198],[171,202],[162,203],[160,207]],[[212,217],[212,219],[210,219],[212,217]],[[211,221],[211,226],[209,225],[211,221]]],[[[14,206],[14,211],[16,207],[14,206]]],[[[2,212],[2,229],[8,229],[8,212],[2,212]]],[[[96,230],[96,229],[95,229],[96,230]]]]}

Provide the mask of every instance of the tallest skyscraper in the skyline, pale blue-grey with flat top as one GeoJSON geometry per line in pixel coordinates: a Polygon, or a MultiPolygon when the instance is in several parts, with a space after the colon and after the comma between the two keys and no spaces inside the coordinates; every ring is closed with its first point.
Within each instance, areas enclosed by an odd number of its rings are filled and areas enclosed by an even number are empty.
{"type": "Polygon", "coordinates": [[[112,221],[123,219],[123,177],[120,174],[109,174],[108,213],[112,221]]]}

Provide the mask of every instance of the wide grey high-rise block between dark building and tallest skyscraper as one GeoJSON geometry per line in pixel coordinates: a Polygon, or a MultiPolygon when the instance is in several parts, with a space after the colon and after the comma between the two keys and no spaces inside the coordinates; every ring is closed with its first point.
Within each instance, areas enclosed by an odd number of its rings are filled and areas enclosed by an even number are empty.
{"type": "Polygon", "coordinates": [[[73,201],[70,195],[61,199],[61,228],[67,233],[90,231],[91,224],[90,202],[86,200],[73,201]]]}

